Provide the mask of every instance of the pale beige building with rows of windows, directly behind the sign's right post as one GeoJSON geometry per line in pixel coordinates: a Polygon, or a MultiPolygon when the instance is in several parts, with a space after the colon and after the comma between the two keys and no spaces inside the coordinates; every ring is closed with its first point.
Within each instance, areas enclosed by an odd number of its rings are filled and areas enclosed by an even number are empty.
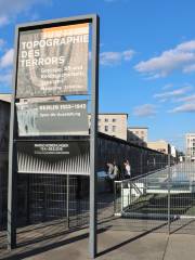
{"type": "MultiPolygon", "coordinates": [[[[90,126],[91,115],[88,117],[90,126]]],[[[127,120],[128,114],[125,113],[99,114],[99,131],[127,141],[127,120]]]]}

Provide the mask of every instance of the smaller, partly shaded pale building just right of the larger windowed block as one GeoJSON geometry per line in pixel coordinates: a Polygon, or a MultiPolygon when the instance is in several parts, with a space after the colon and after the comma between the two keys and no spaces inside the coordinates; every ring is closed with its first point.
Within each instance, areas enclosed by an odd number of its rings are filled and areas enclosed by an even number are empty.
{"type": "Polygon", "coordinates": [[[127,132],[128,142],[146,147],[147,134],[147,127],[129,127],[127,132]]]}

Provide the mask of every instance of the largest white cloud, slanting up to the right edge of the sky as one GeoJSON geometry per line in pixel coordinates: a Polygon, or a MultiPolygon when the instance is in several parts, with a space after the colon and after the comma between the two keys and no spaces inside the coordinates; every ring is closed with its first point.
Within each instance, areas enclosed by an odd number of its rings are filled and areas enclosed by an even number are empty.
{"type": "Polygon", "coordinates": [[[142,61],[134,68],[151,79],[166,77],[177,69],[186,73],[192,64],[195,64],[195,40],[183,42],[164,51],[159,56],[142,61]]]}

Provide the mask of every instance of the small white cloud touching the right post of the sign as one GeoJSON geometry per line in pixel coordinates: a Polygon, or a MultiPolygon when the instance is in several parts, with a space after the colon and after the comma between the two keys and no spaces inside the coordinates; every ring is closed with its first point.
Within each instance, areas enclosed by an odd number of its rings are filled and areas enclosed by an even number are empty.
{"type": "Polygon", "coordinates": [[[134,53],[133,50],[126,50],[123,52],[102,52],[100,54],[100,64],[105,66],[117,65],[122,61],[130,61],[134,53]]]}

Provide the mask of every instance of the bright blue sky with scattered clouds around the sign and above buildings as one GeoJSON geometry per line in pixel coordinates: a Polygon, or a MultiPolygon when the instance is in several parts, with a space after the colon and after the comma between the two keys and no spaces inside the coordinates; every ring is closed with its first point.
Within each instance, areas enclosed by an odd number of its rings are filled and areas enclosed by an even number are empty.
{"type": "Polygon", "coordinates": [[[0,91],[11,91],[15,24],[98,13],[100,112],[129,114],[151,141],[195,131],[194,0],[0,0],[0,91]]]}

